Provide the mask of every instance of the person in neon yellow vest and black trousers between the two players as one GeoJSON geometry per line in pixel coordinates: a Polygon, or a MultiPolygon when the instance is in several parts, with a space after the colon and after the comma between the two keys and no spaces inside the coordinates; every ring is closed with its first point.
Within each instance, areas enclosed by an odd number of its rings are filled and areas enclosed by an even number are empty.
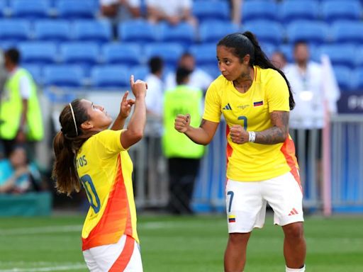
{"type": "Polygon", "coordinates": [[[199,171],[199,162],[204,147],[196,145],[185,135],[174,129],[177,114],[195,116],[193,125],[198,125],[201,117],[201,89],[189,86],[191,70],[177,69],[177,86],[165,91],[164,96],[164,135],[162,147],[168,159],[169,204],[168,210],[174,214],[192,213],[190,203],[194,182],[199,171]]]}

